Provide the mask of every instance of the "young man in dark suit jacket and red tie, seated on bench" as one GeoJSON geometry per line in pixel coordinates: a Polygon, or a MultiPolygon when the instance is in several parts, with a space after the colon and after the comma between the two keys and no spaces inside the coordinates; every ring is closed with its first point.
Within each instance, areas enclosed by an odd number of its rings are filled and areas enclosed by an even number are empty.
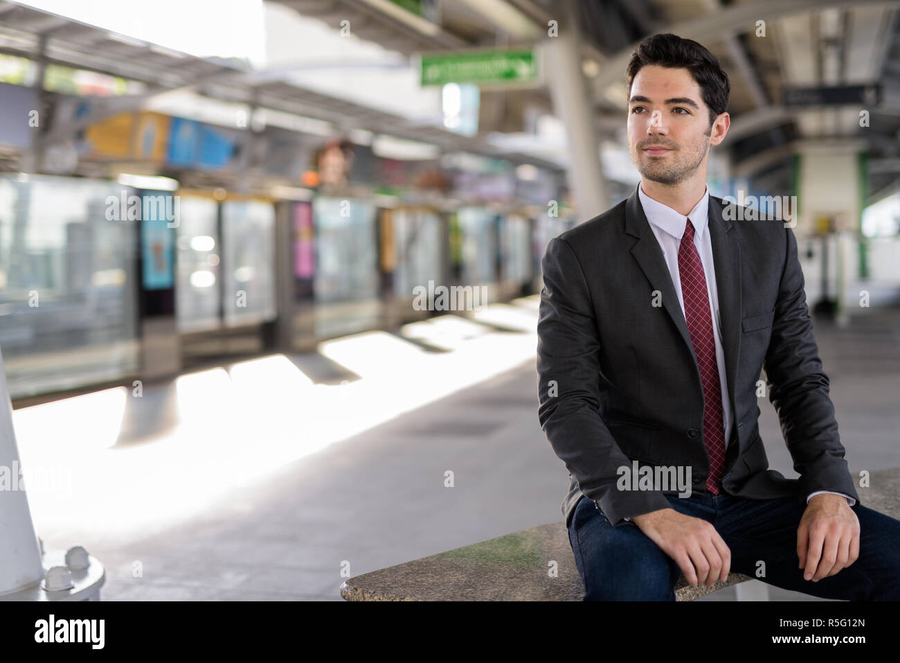
{"type": "Polygon", "coordinates": [[[730,123],[725,72],[698,42],[658,34],[626,85],[641,183],[542,261],[538,418],[570,472],[585,600],[674,600],[680,572],[712,586],[731,569],[900,599],[900,521],[860,504],[792,224],[745,220],[707,190],[730,123]],[[769,469],[763,368],[798,479],[769,469]]]}

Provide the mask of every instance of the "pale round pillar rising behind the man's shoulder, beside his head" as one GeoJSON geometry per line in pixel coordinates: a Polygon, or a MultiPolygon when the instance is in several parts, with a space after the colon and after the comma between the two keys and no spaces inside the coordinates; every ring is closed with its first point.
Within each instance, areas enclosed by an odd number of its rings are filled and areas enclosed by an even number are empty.
{"type": "MultiPolygon", "coordinates": [[[[544,65],[554,114],[563,120],[569,139],[569,186],[578,205],[578,218],[587,221],[607,211],[609,195],[600,164],[594,103],[581,70],[581,40],[575,5],[572,0],[565,0],[557,6],[563,9],[559,35],[542,43],[544,65]]],[[[622,77],[624,80],[624,71],[622,77]]],[[[623,114],[623,123],[625,119],[623,114]]]]}

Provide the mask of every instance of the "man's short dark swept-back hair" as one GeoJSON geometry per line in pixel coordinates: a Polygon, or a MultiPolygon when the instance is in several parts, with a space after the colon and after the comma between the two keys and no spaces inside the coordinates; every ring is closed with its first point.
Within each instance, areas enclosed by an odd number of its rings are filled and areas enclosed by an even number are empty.
{"type": "Polygon", "coordinates": [[[638,44],[626,69],[629,97],[635,76],[644,65],[688,69],[700,86],[704,104],[709,107],[709,126],[728,108],[728,95],[731,92],[728,75],[719,67],[716,56],[697,41],[681,39],[677,34],[666,32],[654,34],[638,44]]]}

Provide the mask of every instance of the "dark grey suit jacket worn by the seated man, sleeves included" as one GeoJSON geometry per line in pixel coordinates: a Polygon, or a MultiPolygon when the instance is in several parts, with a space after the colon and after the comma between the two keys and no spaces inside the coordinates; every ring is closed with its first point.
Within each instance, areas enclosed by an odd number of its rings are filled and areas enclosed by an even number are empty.
{"type": "MultiPolygon", "coordinates": [[[[709,196],[725,368],[734,430],[723,491],[751,499],[817,490],[860,504],[813,337],[794,232],[779,220],[746,220],[709,196]],[[725,212],[725,214],[724,214],[725,212]],[[729,217],[734,221],[729,221],[729,217]],[[738,220],[743,219],[743,220],[738,220]],[[798,479],[769,469],[757,380],[779,415],[798,479]]],[[[621,491],[617,468],[691,467],[705,490],[703,388],[669,269],[635,192],[559,234],[542,260],[537,323],[538,419],[570,473],[568,526],[582,496],[609,522],[671,506],[671,491],[621,491]],[[662,306],[653,305],[653,291],[662,306]]],[[[716,397],[720,397],[716,395],[716,397]]]]}

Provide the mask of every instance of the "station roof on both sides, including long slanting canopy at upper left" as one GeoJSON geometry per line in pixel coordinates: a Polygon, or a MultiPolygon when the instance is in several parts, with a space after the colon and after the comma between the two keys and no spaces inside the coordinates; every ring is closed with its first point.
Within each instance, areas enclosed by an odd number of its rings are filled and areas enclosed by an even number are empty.
{"type": "MultiPolygon", "coordinates": [[[[428,21],[398,13],[390,0],[269,0],[335,29],[349,20],[358,37],[407,57],[423,51],[502,48],[543,41],[549,21],[573,12],[601,135],[622,141],[624,70],[635,45],[654,32],[700,41],[732,83],[732,126],[725,149],[737,174],[762,186],[787,188],[799,141],[860,141],[869,152],[869,202],[900,190],[900,2],[856,0],[440,0],[428,21]],[[764,33],[760,33],[760,22],[764,33]],[[785,86],[881,86],[860,126],[860,106],[797,107],[782,103],[785,86]]],[[[146,95],[193,88],[229,101],[256,103],[445,150],[504,156],[553,168],[526,154],[500,154],[484,132],[521,123],[522,109],[552,112],[545,86],[485,91],[499,109],[482,133],[466,138],[437,127],[284,81],[259,77],[241,63],[194,58],[68,18],[0,0],[0,52],[139,80],[146,95]],[[518,114],[518,115],[517,115],[518,114]],[[493,125],[491,126],[491,123],[493,125]]],[[[552,73],[552,72],[551,72],[552,73]]],[[[132,100],[139,102],[139,100],[132,100]]],[[[112,104],[112,101],[111,101],[112,104]]],[[[624,144],[624,143],[623,143],[624,144]]]]}

